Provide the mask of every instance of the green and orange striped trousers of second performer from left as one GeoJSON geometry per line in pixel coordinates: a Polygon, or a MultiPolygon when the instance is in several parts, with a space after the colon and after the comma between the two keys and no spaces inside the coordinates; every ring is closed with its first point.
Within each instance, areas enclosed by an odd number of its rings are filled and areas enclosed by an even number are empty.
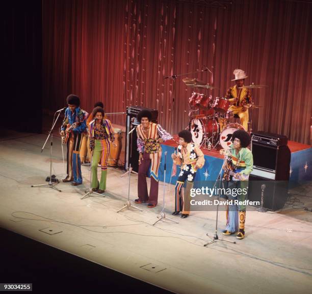
{"type": "Polygon", "coordinates": [[[95,140],[92,157],[92,183],[91,188],[106,190],[107,161],[110,154],[109,140],[95,140]],[[101,180],[97,179],[97,164],[101,159],[101,180]]]}

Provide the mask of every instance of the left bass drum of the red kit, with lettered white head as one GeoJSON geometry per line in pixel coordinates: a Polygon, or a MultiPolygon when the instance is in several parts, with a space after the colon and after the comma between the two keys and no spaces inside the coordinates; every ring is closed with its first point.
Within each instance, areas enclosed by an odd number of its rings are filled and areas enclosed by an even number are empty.
{"type": "Polygon", "coordinates": [[[217,141],[220,133],[220,126],[216,117],[195,118],[190,121],[189,128],[196,145],[200,145],[205,137],[217,141]]]}

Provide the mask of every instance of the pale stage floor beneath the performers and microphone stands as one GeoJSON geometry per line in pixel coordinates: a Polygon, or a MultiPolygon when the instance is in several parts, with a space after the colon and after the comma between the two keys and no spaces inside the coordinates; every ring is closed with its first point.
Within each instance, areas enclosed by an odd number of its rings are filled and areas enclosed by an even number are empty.
{"type": "MultiPolygon", "coordinates": [[[[206,233],[214,234],[216,212],[192,212],[187,219],[171,216],[173,185],[166,194],[165,212],[179,223],[155,226],[164,183],[156,208],[139,204],[143,212],[117,214],[128,190],[120,169],[109,168],[105,198],[80,199],[89,185],[88,166],[82,167],[81,186],[60,183],[62,192],[31,188],[46,183],[49,173],[49,144],[40,153],[45,138],[10,132],[0,139],[2,227],[176,293],[310,293],[312,212],[303,206],[312,208],[311,186],[292,190],[290,205],[279,213],[247,209],[246,238],[225,237],[237,244],[203,247],[209,241],[206,233]],[[294,204],[298,206],[293,208],[294,204]]],[[[58,137],[53,173],[59,179],[64,176],[58,137]]],[[[133,175],[131,200],[137,198],[137,182],[133,175]]],[[[225,213],[220,212],[220,238],[224,223],[225,213]]]]}

